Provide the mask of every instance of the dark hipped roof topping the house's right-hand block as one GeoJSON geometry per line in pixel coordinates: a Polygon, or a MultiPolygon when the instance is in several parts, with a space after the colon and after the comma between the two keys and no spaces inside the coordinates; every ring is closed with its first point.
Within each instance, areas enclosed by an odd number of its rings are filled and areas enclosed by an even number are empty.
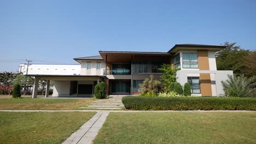
{"type": "Polygon", "coordinates": [[[184,47],[185,48],[196,48],[198,50],[211,49],[214,51],[219,51],[219,50],[224,49],[226,46],[224,46],[224,45],[201,45],[201,44],[176,44],[168,52],[175,52],[176,48],[184,48],[184,47]]]}

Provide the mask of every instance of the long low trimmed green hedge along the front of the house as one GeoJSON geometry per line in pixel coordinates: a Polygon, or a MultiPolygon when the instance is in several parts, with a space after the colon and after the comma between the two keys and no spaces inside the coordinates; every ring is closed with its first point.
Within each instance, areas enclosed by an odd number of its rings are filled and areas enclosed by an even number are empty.
{"type": "Polygon", "coordinates": [[[127,96],[122,101],[130,110],[256,110],[256,98],[127,96]]]}

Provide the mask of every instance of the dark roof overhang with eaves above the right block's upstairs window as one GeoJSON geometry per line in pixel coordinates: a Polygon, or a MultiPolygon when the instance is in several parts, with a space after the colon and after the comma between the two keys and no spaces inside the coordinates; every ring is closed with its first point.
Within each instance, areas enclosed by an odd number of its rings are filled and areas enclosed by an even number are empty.
{"type": "Polygon", "coordinates": [[[177,44],[172,47],[168,52],[174,52],[181,50],[211,50],[217,52],[224,49],[226,46],[223,45],[196,45],[196,44],[177,44]]]}

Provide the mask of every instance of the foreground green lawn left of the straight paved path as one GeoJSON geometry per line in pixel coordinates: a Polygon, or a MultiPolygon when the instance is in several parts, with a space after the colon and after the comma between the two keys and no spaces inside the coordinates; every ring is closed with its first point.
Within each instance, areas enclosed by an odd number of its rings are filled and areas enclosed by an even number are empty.
{"type": "Polygon", "coordinates": [[[95,112],[0,112],[0,143],[61,143],[95,112]]]}

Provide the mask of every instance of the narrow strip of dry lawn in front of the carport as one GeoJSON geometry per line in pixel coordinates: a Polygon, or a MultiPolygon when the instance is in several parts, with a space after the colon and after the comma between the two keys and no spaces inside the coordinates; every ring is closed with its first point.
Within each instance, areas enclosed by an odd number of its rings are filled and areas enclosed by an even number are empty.
{"type": "Polygon", "coordinates": [[[1,98],[0,110],[78,110],[94,99],[1,98]]]}

